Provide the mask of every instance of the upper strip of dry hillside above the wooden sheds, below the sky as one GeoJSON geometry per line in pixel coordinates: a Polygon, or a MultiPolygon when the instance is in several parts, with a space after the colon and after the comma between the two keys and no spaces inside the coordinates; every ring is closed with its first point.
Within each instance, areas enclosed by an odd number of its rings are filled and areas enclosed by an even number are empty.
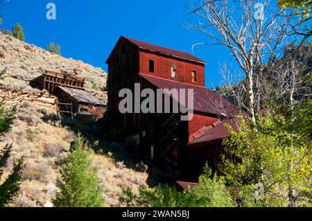
{"type": "Polygon", "coordinates": [[[2,88],[11,91],[33,91],[28,83],[44,71],[74,73],[86,79],[86,88],[106,100],[102,89],[106,85],[107,74],[101,68],[92,67],[82,61],[54,55],[33,44],[21,42],[0,32],[0,71],[6,69],[6,79],[2,88]]]}

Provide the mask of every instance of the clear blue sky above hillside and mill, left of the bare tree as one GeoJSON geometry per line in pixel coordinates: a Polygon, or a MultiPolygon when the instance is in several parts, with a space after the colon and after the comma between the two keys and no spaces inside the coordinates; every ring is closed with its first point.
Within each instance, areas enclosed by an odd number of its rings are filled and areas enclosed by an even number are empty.
{"type": "MultiPolygon", "coordinates": [[[[186,28],[189,0],[0,0],[1,28],[21,24],[26,42],[46,48],[62,46],[66,58],[83,60],[107,71],[105,60],[121,35],[191,52],[191,46],[209,39],[186,28]],[[46,19],[46,4],[56,5],[57,19],[46,19]]],[[[195,2],[195,0],[194,0],[195,2]]],[[[194,55],[205,60],[206,85],[216,87],[222,77],[220,62],[232,62],[223,46],[197,46],[194,55]]]]}

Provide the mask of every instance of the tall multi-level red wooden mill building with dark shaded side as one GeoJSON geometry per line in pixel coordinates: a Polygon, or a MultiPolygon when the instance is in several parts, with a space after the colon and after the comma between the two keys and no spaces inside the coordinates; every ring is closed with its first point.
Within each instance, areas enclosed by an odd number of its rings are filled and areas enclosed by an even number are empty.
{"type": "Polygon", "coordinates": [[[120,37],[106,63],[112,127],[121,129],[124,136],[139,135],[145,155],[190,180],[198,178],[206,162],[217,170],[222,138],[229,135],[225,123],[235,126],[234,116],[240,109],[205,88],[204,61],[189,53],[120,37]],[[193,89],[193,118],[181,121],[182,113],[173,112],[121,114],[119,91],[127,88],[135,94],[135,83],[141,90],[193,89]]]}

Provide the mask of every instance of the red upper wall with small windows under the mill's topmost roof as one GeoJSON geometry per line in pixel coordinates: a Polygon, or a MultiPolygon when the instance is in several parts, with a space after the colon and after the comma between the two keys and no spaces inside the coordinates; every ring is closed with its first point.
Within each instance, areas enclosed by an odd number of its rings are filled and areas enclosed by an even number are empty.
{"type": "Polygon", "coordinates": [[[179,81],[179,76],[184,76],[184,83],[205,87],[205,64],[173,58],[168,55],[159,55],[152,51],[141,49],[139,52],[140,73],[150,74],[159,78],[179,81]],[[154,61],[155,71],[149,73],[149,60],[154,61]],[[171,78],[171,64],[174,64],[177,72],[176,78],[171,78]],[[196,70],[197,82],[191,81],[191,71],[196,70]]]}

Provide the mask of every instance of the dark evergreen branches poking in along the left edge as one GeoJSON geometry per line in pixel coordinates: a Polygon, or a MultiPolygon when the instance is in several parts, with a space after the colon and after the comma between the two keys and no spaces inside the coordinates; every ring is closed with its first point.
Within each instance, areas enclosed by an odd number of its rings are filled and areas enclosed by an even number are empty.
{"type": "MultiPolygon", "coordinates": [[[[2,71],[0,76],[5,71],[2,71]]],[[[3,100],[0,102],[0,136],[7,134],[15,119],[16,109],[13,107],[9,111],[4,108],[3,100]]],[[[0,152],[0,178],[3,175],[3,168],[7,166],[8,159],[10,158],[12,145],[6,145],[0,152]]],[[[15,161],[12,169],[12,173],[8,175],[8,178],[0,185],[0,207],[6,206],[6,204],[12,202],[13,197],[17,195],[21,184],[21,170],[23,165],[23,158],[15,161]]]]}

